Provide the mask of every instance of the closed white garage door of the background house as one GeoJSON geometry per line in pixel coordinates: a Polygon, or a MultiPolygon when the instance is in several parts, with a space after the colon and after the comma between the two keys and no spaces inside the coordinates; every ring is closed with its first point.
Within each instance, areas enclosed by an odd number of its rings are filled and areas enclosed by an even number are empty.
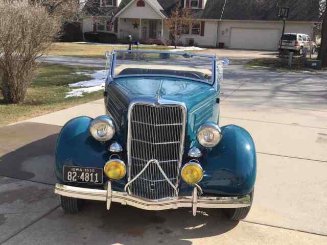
{"type": "Polygon", "coordinates": [[[230,47],[248,50],[277,50],[278,29],[231,28],[230,47]]]}

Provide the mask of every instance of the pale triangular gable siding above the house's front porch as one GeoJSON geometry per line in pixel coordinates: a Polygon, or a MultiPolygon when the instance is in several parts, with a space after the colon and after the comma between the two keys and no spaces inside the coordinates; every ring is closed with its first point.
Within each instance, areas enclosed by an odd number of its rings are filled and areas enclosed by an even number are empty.
{"type": "Polygon", "coordinates": [[[145,18],[161,19],[162,17],[146,2],[145,7],[136,7],[137,1],[134,1],[120,15],[120,18],[145,18]]]}

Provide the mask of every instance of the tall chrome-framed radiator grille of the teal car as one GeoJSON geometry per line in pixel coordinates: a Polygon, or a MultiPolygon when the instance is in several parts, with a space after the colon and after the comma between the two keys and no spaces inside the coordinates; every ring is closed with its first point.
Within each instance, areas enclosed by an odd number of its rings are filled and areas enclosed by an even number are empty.
{"type": "MultiPolygon", "coordinates": [[[[168,179],[177,186],[185,133],[186,112],[178,105],[134,104],[129,118],[129,180],[151,159],[159,161],[168,179]]],[[[130,185],[132,195],[146,199],[173,197],[174,188],[155,162],[130,185]]]]}

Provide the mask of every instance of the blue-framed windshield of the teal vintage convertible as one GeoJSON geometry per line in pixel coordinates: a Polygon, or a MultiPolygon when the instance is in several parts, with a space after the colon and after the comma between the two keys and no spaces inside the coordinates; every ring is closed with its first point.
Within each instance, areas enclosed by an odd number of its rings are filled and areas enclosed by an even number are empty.
{"type": "Polygon", "coordinates": [[[112,75],[170,76],[213,84],[214,57],[172,52],[115,51],[112,75]]]}

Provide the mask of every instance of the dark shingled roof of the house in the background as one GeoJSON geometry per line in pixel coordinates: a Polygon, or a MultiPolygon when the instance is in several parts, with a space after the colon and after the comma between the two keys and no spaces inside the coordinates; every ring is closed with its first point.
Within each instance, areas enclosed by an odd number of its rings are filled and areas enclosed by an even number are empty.
{"type": "MultiPolygon", "coordinates": [[[[88,0],[94,1],[94,0],[88,0]]],[[[119,7],[99,8],[94,15],[111,15],[119,13],[133,0],[122,0],[119,7]]],[[[165,16],[169,16],[178,0],[148,0],[152,6],[165,16]]],[[[290,7],[288,20],[318,21],[319,0],[207,0],[204,9],[193,9],[198,19],[228,20],[279,20],[278,8],[290,7]]]]}

